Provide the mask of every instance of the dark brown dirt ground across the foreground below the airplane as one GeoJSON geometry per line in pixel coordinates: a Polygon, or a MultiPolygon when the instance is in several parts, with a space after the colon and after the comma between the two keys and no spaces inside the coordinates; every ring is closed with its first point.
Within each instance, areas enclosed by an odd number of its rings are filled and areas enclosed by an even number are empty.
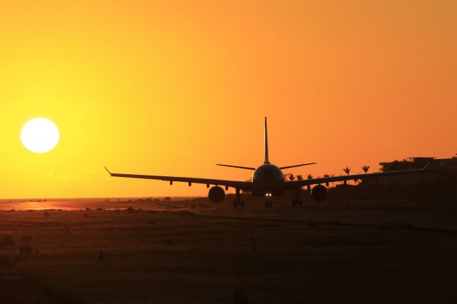
{"type": "Polygon", "coordinates": [[[451,203],[247,203],[0,211],[0,302],[456,302],[451,203]]]}

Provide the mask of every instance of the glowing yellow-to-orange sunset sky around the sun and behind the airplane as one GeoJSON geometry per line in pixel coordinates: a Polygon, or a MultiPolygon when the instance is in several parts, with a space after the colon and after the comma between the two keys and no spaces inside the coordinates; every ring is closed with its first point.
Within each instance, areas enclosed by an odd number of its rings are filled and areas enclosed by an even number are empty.
{"type": "Polygon", "coordinates": [[[123,173],[457,152],[457,1],[1,1],[0,197],[193,196],[123,173]],[[61,141],[27,151],[21,127],[61,141]]]}

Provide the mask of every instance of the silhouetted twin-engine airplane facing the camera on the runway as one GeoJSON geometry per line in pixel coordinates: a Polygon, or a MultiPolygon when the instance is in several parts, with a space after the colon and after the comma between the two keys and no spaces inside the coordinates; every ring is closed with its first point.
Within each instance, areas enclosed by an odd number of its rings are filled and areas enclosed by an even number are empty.
{"type": "Polygon", "coordinates": [[[231,168],[240,168],[245,170],[253,171],[251,181],[227,181],[221,179],[211,179],[211,178],[189,178],[189,177],[179,177],[179,176],[148,176],[148,175],[139,175],[139,174],[124,174],[124,173],[111,173],[106,167],[106,171],[111,176],[114,177],[123,177],[123,178],[144,178],[144,179],[154,179],[160,181],[169,181],[170,185],[176,182],[189,183],[189,186],[192,183],[201,183],[206,184],[206,188],[212,187],[209,189],[208,197],[209,200],[213,203],[221,203],[225,198],[225,191],[228,191],[229,188],[235,188],[235,199],[233,201],[233,208],[238,206],[244,208],[244,201],[241,199],[241,192],[251,193],[256,197],[264,197],[266,199],[265,207],[271,208],[272,198],[275,196],[282,196],[286,191],[293,192],[292,206],[303,206],[303,201],[301,200],[301,190],[303,187],[307,187],[311,190],[311,197],[314,201],[322,202],[326,200],[327,197],[327,187],[329,183],[336,181],[356,181],[364,180],[366,178],[375,178],[380,176],[395,176],[401,174],[411,174],[411,173],[422,173],[426,170],[428,164],[422,169],[413,169],[413,170],[404,170],[404,171],[390,171],[390,172],[379,172],[379,173],[366,173],[366,174],[354,174],[347,176],[330,176],[323,178],[310,178],[306,180],[297,180],[297,181],[286,181],[284,179],[283,169],[295,168],[300,166],[313,165],[314,163],[301,163],[298,165],[292,166],[283,166],[278,167],[270,163],[268,158],[268,133],[267,133],[267,123],[265,117],[265,126],[264,126],[264,161],[261,166],[256,168],[246,167],[246,166],[233,166],[225,165],[221,163],[216,163],[217,166],[225,166],[231,168]],[[324,186],[325,185],[325,186],[324,186]],[[222,186],[225,188],[222,188],[222,186]],[[311,186],[313,188],[311,189],[311,186]]]}

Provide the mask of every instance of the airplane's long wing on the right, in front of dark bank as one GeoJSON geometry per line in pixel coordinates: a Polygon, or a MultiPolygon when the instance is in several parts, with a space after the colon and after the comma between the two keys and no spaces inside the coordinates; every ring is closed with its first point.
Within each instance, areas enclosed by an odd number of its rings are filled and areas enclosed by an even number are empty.
{"type": "Polygon", "coordinates": [[[403,171],[390,171],[390,172],[379,172],[379,173],[367,173],[367,174],[354,174],[351,176],[329,176],[324,178],[311,178],[301,181],[286,181],[286,188],[300,188],[303,186],[316,185],[319,183],[332,183],[335,181],[352,181],[356,179],[364,178],[375,178],[380,176],[398,176],[402,174],[411,174],[411,173],[422,173],[426,170],[428,164],[422,169],[413,169],[413,170],[403,170],[403,171]]]}

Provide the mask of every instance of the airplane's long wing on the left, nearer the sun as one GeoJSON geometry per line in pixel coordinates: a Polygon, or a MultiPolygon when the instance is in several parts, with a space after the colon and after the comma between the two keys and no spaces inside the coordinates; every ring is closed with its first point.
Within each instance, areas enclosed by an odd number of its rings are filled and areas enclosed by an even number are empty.
{"type": "Polygon", "coordinates": [[[232,188],[238,188],[243,191],[251,191],[250,181],[226,181],[221,179],[211,179],[211,178],[188,178],[188,177],[179,177],[179,176],[144,176],[139,174],[124,174],[124,173],[111,173],[106,167],[109,175],[114,177],[124,177],[124,178],[143,178],[143,179],[156,179],[159,181],[169,181],[170,184],[174,181],[189,183],[191,186],[192,183],[203,183],[206,185],[217,185],[217,186],[226,186],[232,188]]]}

